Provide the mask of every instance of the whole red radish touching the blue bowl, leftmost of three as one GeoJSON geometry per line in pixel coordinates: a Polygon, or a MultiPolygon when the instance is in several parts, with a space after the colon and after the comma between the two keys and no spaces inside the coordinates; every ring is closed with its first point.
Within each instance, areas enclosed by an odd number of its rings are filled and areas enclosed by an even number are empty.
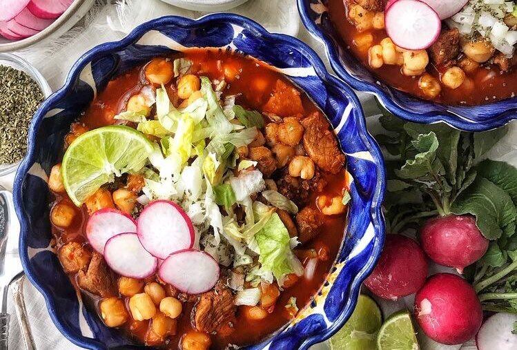
{"type": "Polygon", "coordinates": [[[420,246],[403,235],[387,235],[380,260],[364,281],[380,298],[397,300],[416,293],[427,278],[427,260],[420,246]]]}

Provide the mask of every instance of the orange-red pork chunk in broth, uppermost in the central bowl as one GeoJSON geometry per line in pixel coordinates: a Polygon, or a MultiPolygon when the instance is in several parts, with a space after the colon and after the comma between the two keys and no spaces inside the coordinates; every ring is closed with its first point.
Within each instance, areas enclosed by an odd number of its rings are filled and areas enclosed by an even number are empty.
{"type": "Polygon", "coordinates": [[[304,113],[300,91],[278,79],[273,93],[263,108],[266,113],[273,113],[280,117],[291,117],[304,113]]]}

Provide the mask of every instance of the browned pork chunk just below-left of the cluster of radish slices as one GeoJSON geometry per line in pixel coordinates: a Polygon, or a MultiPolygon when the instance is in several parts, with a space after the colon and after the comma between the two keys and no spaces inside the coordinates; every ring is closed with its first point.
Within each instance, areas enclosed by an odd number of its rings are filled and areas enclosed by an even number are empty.
{"type": "Polygon", "coordinates": [[[92,260],[86,272],[79,270],[77,283],[85,291],[99,295],[102,298],[117,295],[117,280],[115,273],[110,270],[104,257],[94,251],[92,260]]]}

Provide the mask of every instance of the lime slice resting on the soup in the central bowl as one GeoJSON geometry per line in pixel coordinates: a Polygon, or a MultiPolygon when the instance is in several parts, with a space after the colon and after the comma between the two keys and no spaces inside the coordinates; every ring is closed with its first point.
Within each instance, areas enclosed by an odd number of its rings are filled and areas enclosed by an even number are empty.
{"type": "Polygon", "coordinates": [[[79,206],[115,175],[139,171],[151,152],[153,144],[129,126],[88,131],[70,144],[63,157],[61,174],[66,192],[79,206]]]}

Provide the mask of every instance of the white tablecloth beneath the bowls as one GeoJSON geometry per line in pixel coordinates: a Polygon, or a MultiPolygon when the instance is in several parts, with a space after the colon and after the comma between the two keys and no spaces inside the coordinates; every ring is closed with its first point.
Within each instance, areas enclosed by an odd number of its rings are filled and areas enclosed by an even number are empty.
{"type": "MultiPolygon", "coordinates": [[[[271,32],[281,32],[302,39],[320,54],[326,66],[329,67],[328,61],[324,57],[322,44],[315,41],[302,25],[295,0],[250,0],[231,12],[255,19],[271,32]]],[[[46,77],[50,87],[57,90],[62,86],[72,64],[86,50],[99,43],[121,39],[137,24],[167,14],[194,19],[205,13],[182,10],[159,0],[133,0],[132,6],[127,8],[124,21],[119,21],[115,6],[105,5],[99,0],[94,10],[85,17],[82,26],[80,25],[68,32],[66,39],[47,41],[42,45],[17,53],[34,64],[46,77]],[[113,28],[116,30],[113,30],[113,28]]],[[[378,128],[378,123],[376,123],[376,118],[372,116],[377,115],[379,111],[373,103],[373,98],[371,95],[362,93],[358,95],[365,114],[371,117],[368,119],[369,127],[375,130],[375,128],[378,128]]],[[[517,140],[517,124],[514,124],[510,135],[496,146],[492,156],[517,165],[517,144],[512,140],[517,140]]],[[[0,184],[6,188],[11,188],[13,177],[14,175],[0,178],[0,184]]],[[[57,331],[50,320],[43,297],[27,280],[24,289],[32,336],[37,349],[79,349],[57,331]]],[[[400,300],[398,303],[382,302],[382,309],[386,315],[406,306],[411,307],[411,298],[400,300]]],[[[14,317],[12,302],[8,311],[13,315],[10,322],[9,347],[10,349],[23,349],[21,333],[17,319],[14,317]]],[[[438,346],[425,339],[422,339],[422,343],[425,343],[424,349],[459,349],[459,346],[438,346]]]]}

